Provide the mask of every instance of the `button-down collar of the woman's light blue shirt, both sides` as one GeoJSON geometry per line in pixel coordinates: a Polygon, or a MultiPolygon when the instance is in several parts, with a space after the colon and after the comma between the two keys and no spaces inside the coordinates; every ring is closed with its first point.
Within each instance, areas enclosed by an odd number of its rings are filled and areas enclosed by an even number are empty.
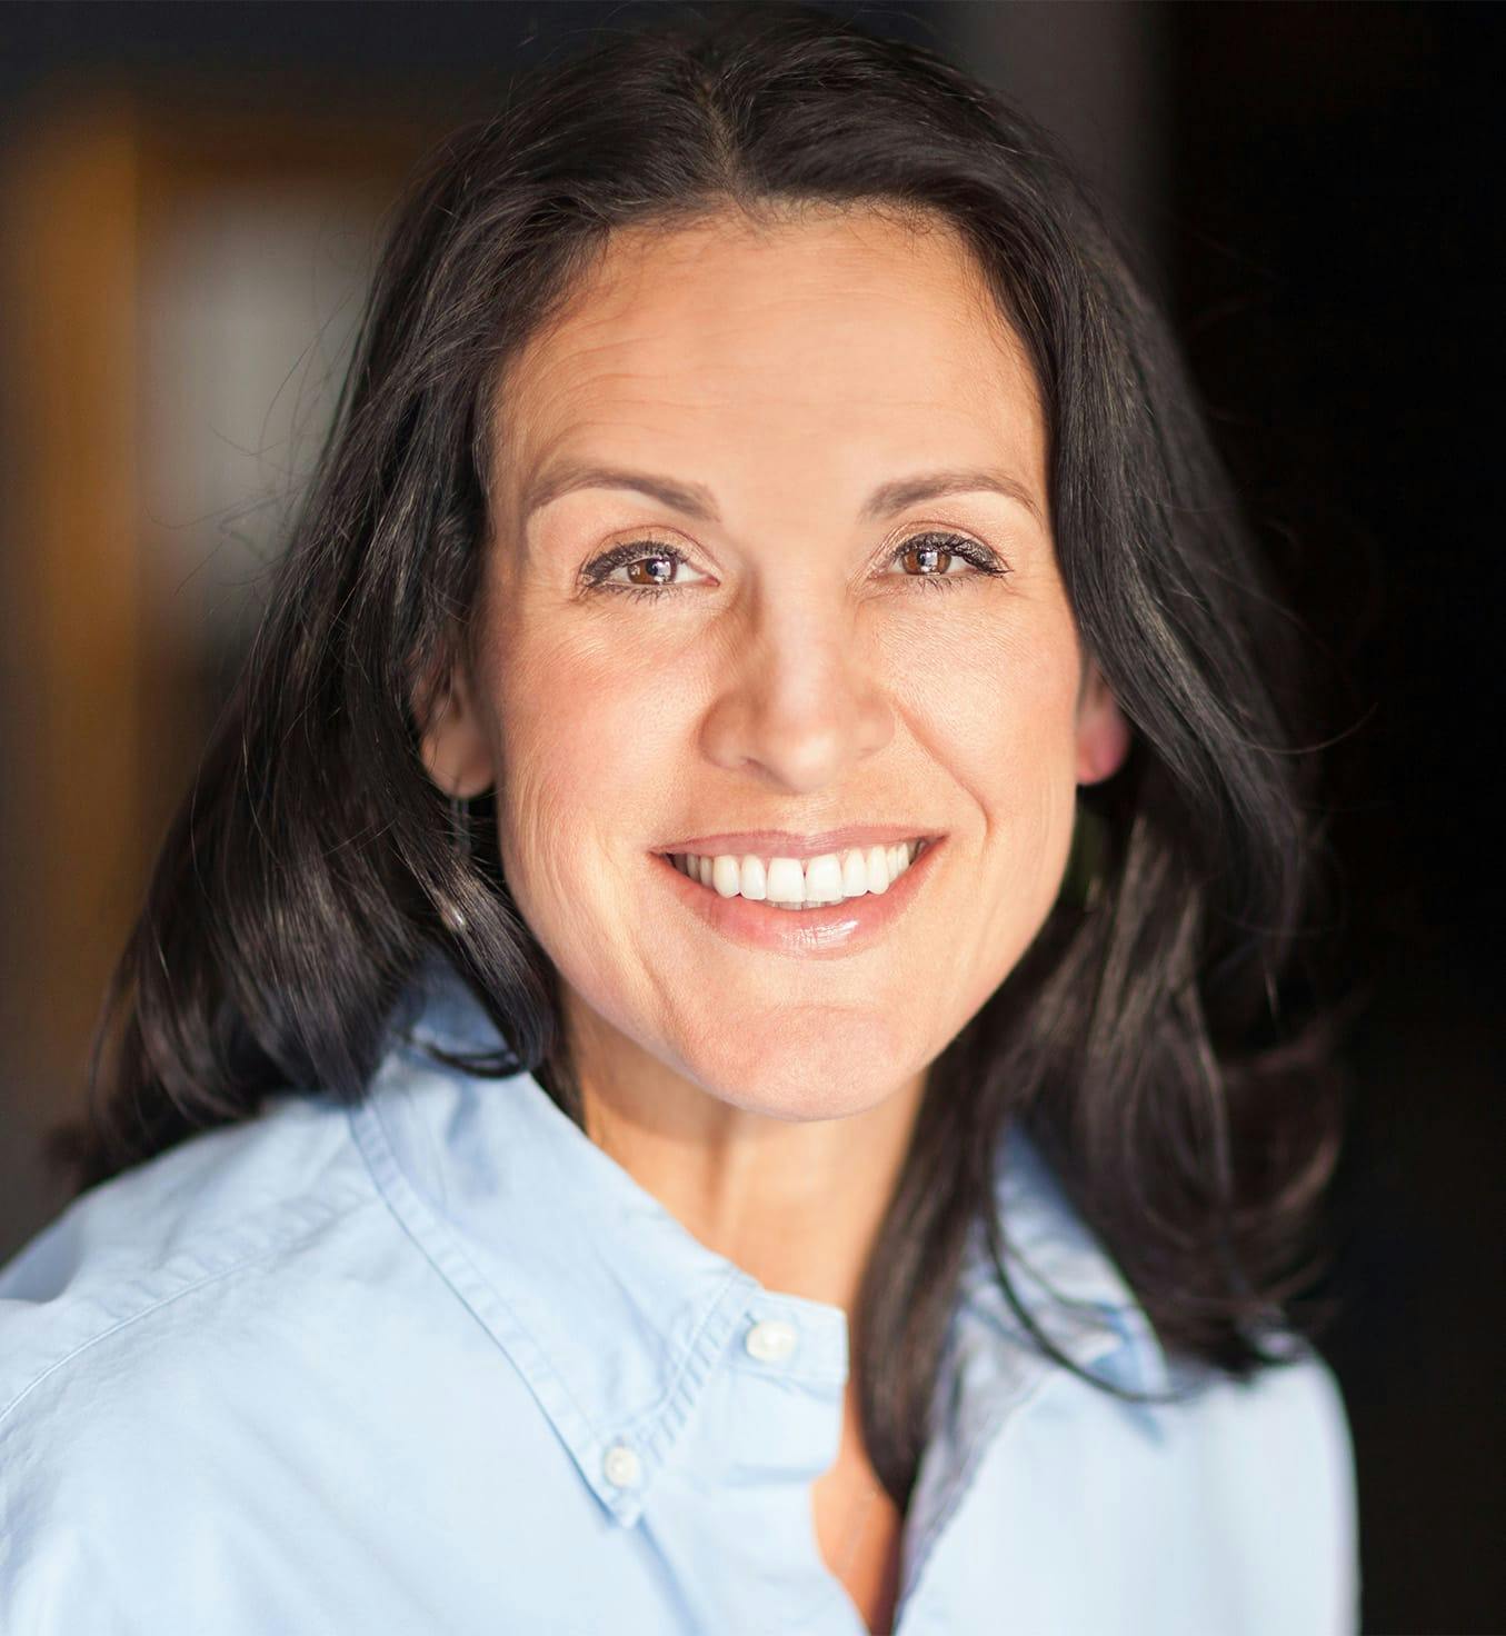
{"type": "MultiPolygon", "coordinates": [[[[701,1382],[755,1325],[764,1335],[769,1320],[773,1330],[791,1325],[798,1346],[780,1363],[783,1374],[840,1400],[849,1374],[840,1307],[765,1289],[703,1245],[531,1073],[471,1075],[437,1062],[430,1047],[505,1049],[440,955],[394,1011],[352,1129],[394,1212],[509,1353],[620,1521],[636,1520],[701,1382]]],[[[1164,1358],[1148,1322],[1024,1132],[1001,1144],[997,1198],[1011,1273],[1032,1317],[1073,1361],[1159,1389],[1164,1358]]],[[[975,1224],[950,1338],[978,1325],[1007,1338],[1001,1379],[1011,1396],[1048,1368],[1033,1345],[1019,1345],[1024,1332],[975,1224]]]]}

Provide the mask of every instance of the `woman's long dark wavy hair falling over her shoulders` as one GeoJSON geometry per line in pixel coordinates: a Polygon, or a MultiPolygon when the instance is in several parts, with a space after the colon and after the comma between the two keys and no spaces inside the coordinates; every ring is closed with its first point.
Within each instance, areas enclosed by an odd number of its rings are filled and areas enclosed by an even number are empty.
{"type": "Polygon", "coordinates": [[[1342,1006],[1303,1006],[1298,1029],[1279,1003],[1326,892],[1298,625],[1146,280],[1053,142],[929,49],[801,5],[675,8],[530,70],[430,155],[111,980],[88,1111],[49,1153],[87,1188],[278,1090],[360,1099],[435,951],[509,1047],[466,1067],[535,1072],[580,1122],[495,792],[466,854],[419,754],[415,677],[445,672],[473,607],[505,366],[613,229],[808,203],[948,221],[984,268],[1045,404],[1078,630],[1133,726],[1120,771],[1079,790],[1094,892],[1063,895],[930,1065],[860,1289],[863,1433],[903,1503],[975,1220],[1015,1314],[1076,1368],[1004,1266],[1012,1122],[1163,1346],[1244,1378],[1287,1358],[1272,1314],[1302,1328],[1346,1101],[1342,1006]]]}

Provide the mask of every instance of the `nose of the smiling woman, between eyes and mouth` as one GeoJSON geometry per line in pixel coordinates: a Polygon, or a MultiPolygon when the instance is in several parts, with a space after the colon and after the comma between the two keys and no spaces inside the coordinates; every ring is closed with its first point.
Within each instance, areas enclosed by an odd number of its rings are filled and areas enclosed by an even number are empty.
{"type": "Polygon", "coordinates": [[[888,744],[893,708],[850,609],[765,604],[736,641],[701,728],[716,766],[811,793],[888,744]]]}

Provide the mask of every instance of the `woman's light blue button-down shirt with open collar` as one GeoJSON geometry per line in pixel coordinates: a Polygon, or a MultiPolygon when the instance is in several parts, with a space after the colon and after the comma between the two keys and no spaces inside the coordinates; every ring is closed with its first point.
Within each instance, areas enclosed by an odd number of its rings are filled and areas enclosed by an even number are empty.
{"type": "MultiPolygon", "coordinates": [[[[273,1098],[0,1270],[0,1629],[860,1636],[811,1512],[844,1310],[708,1250],[533,1076],[437,1065],[499,1040],[425,982],[361,1106],[273,1098]]],[[[1001,1155],[1032,1310],[1081,1299],[1076,1361],[1189,1396],[1037,1355],[975,1230],[896,1636],[1356,1631],[1326,1366],[1169,1368],[1038,1155],[1001,1155]]]]}

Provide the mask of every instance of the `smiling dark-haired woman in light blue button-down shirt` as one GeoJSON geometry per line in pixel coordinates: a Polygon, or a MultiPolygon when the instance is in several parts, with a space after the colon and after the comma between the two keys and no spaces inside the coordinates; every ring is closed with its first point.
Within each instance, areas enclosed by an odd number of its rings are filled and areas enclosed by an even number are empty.
{"type": "Polygon", "coordinates": [[[1352,1628],[1287,628],[934,56],[456,134],[0,1278],[0,1625],[1352,1628]]]}

